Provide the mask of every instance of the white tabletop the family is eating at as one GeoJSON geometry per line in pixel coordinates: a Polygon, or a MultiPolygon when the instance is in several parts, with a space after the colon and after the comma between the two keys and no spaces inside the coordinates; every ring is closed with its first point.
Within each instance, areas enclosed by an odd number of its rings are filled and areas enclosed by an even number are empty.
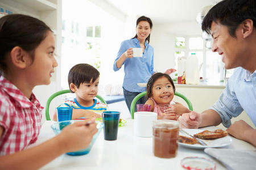
{"type": "MultiPolygon", "coordinates": [[[[44,122],[38,141],[35,145],[55,136],[50,128],[53,121],[44,122]]],[[[205,128],[216,129],[214,126],[205,128]]],[[[247,142],[233,138],[232,145],[225,148],[236,150],[255,150],[247,142]]],[[[127,120],[125,126],[118,129],[116,141],[105,141],[102,129],[92,150],[82,156],[61,155],[41,169],[182,169],[181,159],[187,156],[210,158],[203,150],[179,146],[176,158],[164,159],[152,153],[152,138],[136,137],[133,132],[133,120],[127,120]]],[[[210,158],[213,159],[213,158],[210,158]]],[[[225,169],[217,160],[217,169],[225,169]]]]}

